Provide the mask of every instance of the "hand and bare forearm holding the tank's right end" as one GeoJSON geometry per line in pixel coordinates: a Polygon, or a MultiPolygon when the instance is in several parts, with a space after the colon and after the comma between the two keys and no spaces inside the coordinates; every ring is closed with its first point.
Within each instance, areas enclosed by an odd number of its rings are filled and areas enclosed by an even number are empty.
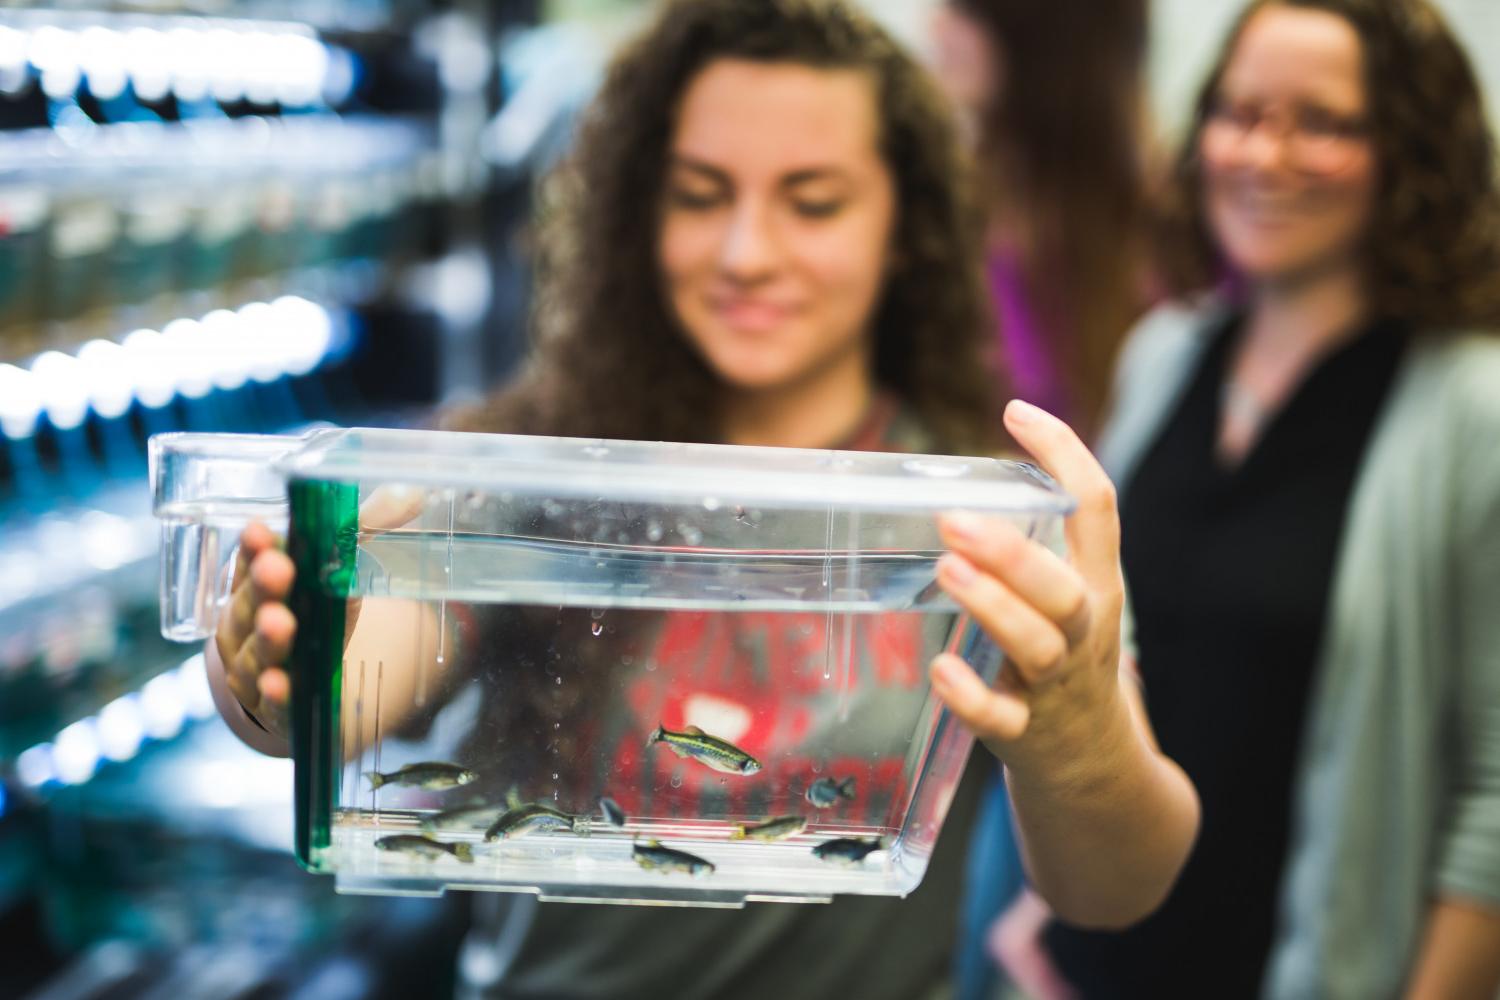
{"type": "Polygon", "coordinates": [[[1122,672],[1119,514],[1108,477],[1064,423],[1014,402],[1017,442],[1072,493],[1068,559],[1004,520],[942,520],[939,580],[1005,651],[996,688],[932,664],[948,708],[1005,763],[1034,888],[1070,924],[1119,928],[1172,889],[1198,829],[1191,781],[1155,745],[1122,672]]]}

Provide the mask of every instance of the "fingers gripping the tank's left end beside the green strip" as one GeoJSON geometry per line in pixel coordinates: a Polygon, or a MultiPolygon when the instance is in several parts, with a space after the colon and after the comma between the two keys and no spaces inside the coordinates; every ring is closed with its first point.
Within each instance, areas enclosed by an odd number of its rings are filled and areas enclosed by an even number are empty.
{"type": "Polygon", "coordinates": [[[291,681],[286,658],[297,619],[286,607],[297,571],[272,529],[250,522],[240,534],[230,604],[219,615],[214,642],[225,681],[267,732],[288,736],[291,681]]]}

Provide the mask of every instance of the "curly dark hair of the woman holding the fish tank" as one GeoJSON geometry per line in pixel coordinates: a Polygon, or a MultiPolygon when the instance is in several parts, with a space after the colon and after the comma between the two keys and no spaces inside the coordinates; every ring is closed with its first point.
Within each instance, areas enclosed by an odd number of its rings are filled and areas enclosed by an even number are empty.
{"type": "Polygon", "coordinates": [[[926,72],[843,0],[674,0],[610,67],[570,159],[543,189],[534,352],[448,424],[466,430],[718,441],[722,382],[688,345],[657,267],[669,144],[714,60],[864,70],[897,195],[892,268],[873,318],[874,378],[950,451],[990,451],[998,363],[982,220],[956,126],[926,72]]]}

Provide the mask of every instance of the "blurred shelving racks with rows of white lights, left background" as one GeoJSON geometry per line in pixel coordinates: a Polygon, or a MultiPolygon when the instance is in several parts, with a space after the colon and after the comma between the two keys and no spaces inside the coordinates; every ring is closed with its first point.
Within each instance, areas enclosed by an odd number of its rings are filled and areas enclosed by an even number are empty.
{"type": "Polygon", "coordinates": [[[544,13],[0,6],[0,997],[452,991],[462,901],[303,874],[290,762],[160,637],[146,439],[411,424],[504,375],[596,72],[544,13]]]}

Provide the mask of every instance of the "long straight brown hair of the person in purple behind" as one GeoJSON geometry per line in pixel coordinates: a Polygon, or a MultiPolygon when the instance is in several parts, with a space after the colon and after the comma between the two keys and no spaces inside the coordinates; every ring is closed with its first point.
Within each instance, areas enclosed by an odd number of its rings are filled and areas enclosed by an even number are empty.
{"type": "Polygon", "coordinates": [[[1026,291],[1089,432],[1144,306],[1148,0],[950,1],[984,27],[1002,67],[980,121],[981,183],[1024,220],[1026,291]]]}

